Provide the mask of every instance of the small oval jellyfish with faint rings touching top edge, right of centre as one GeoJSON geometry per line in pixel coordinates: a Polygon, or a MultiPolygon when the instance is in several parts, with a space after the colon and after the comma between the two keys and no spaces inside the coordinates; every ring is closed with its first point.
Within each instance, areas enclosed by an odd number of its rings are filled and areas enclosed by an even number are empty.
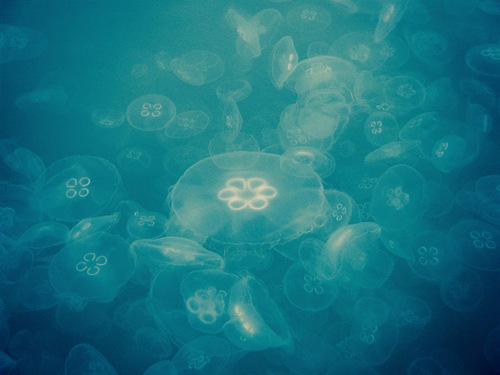
{"type": "Polygon", "coordinates": [[[286,15],[290,27],[300,33],[318,33],[332,23],[330,13],[315,4],[300,4],[290,9],[286,15]]]}

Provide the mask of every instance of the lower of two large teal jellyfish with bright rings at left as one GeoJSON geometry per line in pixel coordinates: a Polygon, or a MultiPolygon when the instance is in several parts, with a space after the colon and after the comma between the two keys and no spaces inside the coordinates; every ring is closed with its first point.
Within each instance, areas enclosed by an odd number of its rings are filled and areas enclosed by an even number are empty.
{"type": "Polygon", "coordinates": [[[110,302],[135,270],[121,237],[105,232],[68,243],[52,259],[50,281],[69,303],[110,302]]]}

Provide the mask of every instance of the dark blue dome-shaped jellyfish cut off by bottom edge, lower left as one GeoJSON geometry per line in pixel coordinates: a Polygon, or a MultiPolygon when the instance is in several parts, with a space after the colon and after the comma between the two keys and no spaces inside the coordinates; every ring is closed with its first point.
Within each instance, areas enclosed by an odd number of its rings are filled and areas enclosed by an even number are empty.
{"type": "Polygon", "coordinates": [[[66,375],[118,374],[106,357],[89,344],[78,344],[71,348],[64,367],[66,375]]]}

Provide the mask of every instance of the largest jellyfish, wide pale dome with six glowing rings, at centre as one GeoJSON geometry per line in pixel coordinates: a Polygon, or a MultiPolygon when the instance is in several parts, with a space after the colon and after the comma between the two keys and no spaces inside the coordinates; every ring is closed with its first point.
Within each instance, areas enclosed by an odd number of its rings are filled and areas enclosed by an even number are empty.
{"type": "Polygon", "coordinates": [[[182,227],[225,244],[287,242],[324,214],[320,178],[280,169],[278,155],[233,152],[201,160],[171,192],[182,227]]]}

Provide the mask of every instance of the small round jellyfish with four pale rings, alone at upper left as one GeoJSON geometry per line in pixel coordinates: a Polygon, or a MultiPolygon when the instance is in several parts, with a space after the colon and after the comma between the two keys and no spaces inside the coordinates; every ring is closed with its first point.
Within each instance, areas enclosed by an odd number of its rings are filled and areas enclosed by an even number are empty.
{"type": "Polygon", "coordinates": [[[127,107],[128,123],[142,131],[165,128],[177,113],[175,104],[163,95],[142,95],[127,107]]]}

